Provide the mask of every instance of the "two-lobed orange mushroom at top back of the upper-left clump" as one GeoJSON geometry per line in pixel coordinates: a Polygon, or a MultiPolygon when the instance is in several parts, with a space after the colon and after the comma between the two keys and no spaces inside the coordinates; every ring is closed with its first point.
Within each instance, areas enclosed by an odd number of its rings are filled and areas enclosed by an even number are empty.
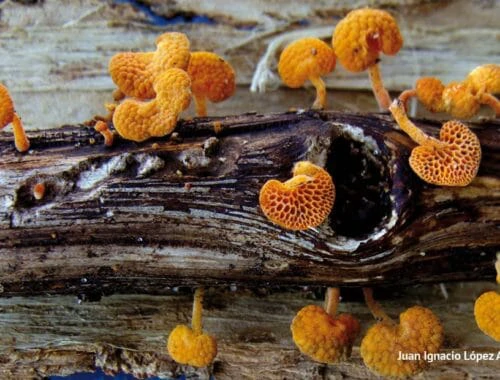
{"type": "Polygon", "coordinates": [[[189,40],[183,33],[169,32],[156,39],[155,52],[124,52],[109,62],[109,72],[119,93],[139,99],[155,97],[154,81],[169,68],[185,70],[189,63],[189,40]]]}

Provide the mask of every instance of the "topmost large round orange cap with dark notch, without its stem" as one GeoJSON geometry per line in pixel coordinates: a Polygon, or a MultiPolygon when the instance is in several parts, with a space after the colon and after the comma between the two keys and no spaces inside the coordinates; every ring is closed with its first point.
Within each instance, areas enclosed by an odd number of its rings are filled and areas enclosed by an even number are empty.
{"type": "Polygon", "coordinates": [[[349,12],[337,24],[332,45],[342,66],[359,72],[376,64],[380,51],[395,55],[403,46],[403,37],[388,12],[362,8],[349,12]]]}

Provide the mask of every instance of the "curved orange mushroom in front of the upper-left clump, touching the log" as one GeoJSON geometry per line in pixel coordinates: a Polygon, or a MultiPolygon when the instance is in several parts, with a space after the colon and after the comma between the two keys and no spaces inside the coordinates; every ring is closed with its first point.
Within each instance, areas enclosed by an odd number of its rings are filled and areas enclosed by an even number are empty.
{"type": "Polygon", "coordinates": [[[191,101],[191,80],[180,69],[169,69],[154,82],[156,98],[150,101],[126,99],[113,114],[113,125],[123,138],[144,141],[161,137],[175,128],[179,114],[191,101]]]}

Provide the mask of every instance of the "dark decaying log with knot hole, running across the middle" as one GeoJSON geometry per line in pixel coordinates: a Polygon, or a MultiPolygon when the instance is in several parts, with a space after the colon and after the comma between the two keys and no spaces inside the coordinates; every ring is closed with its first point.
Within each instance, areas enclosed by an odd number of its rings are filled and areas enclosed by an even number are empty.
{"type": "MultiPolygon", "coordinates": [[[[433,122],[419,124],[436,134],[433,122]]],[[[106,148],[92,128],[66,126],[31,134],[25,155],[2,134],[3,294],[492,278],[498,126],[474,126],[483,160],[465,188],[423,184],[407,163],[414,144],[382,114],[195,119],[158,147],[106,148]],[[319,228],[285,231],[263,216],[258,192],[303,159],[332,174],[336,204],[319,228]]]]}

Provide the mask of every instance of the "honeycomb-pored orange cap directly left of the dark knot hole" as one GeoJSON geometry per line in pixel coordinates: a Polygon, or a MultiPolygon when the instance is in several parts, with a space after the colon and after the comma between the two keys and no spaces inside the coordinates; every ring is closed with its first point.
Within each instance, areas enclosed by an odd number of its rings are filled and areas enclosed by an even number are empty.
{"type": "Polygon", "coordinates": [[[335,201],[335,185],[328,172],[308,161],[298,162],[293,178],[269,180],[262,186],[259,203],[268,219],[289,230],[320,225],[335,201]]]}

